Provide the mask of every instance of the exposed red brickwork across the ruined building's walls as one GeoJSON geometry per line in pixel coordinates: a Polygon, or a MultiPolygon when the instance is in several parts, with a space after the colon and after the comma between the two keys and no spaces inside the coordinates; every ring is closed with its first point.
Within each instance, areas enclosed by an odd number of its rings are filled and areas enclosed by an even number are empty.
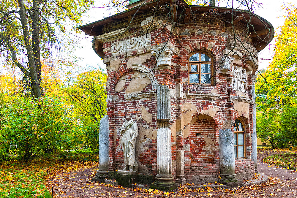
{"type": "MultiPolygon", "coordinates": [[[[151,16],[151,13],[146,13],[143,15],[137,15],[135,21],[133,21],[132,26],[136,27],[140,25],[140,22],[144,20],[146,17],[151,16]]],[[[218,16],[216,16],[218,17],[218,16]]],[[[223,121],[234,121],[236,118],[241,117],[244,118],[244,122],[246,124],[247,131],[247,140],[246,146],[251,146],[250,137],[251,137],[251,124],[252,124],[252,106],[250,105],[250,118],[246,119],[248,115],[239,115],[233,108],[233,103],[230,100],[230,96],[236,96],[236,91],[232,90],[231,81],[227,78],[232,77],[232,74],[222,74],[217,72],[219,69],[217,64],[219,61],[219,55],[222,51],[227,47],[228,39],[222,36],[222,32],[225,32],[232,37],[233,31],[230,28],[224,27],[224,18],[211,18],[202,17],[199,15],[199,20],[190,19],[190,21],[196,21],[197,23],[190,23],[184,26],[181,26],[180,32],[183,32],[185,29],[197,29],[201,30],[203,34],[197,34],[197,32],[189,32],[189,35],[178,35],[175,37],[171,35],[169,38],[169,42],[177,47],[177,52],[172,58],[172,66],[171,69],[156,69],[155,63],[156,59],[151,56],[144,65],[150,69],[155,68],[154,76],[158,83],[163,85],[168,85],[169,88],[175,90],[176,83],[184,84],[184,91],[191,93],[203,93],[203,94],[211,94],[211,90],[216,89],[217,94],[220,96],[220,99],[185,99],[185,98],[171,98],[171,120],[170,124],[173,125],[176,122],[177,118],[181,117],[181,109],[180,107],[185,102],[191,102],[195,104],[198,112],[201,110],[205,110],[206,108],[216,107],[218,112],[212,119],[206,120],[197,120],[190,128],[189,137],[183,137],[183,135],[177,135],[177,137],[172,136],[172,161],[176,160],[176,150],[183,149],[184,144],[190,144],[190,151],[185,151],[185,173],[187,175],[188,183],[191,182],[192,175],[218,175],[219,176],[219,151],[215,151],[213,153],[207,153],[206,151],[206,142],[203,140],[203,135],[207,135],[211,137],[213,141],[215,141],[214,146],[218,145],[218,136],[219,129],[223,127],[223,121]],[[211,19],[211,23],[206,24],[205,21],[209,21],[211,19]],[[208,31],[216,30],[217,33],[215,35],[211,35],[208,31]],[[221,32],[221,33],[220,33],[221,32]],[[212,47],[209,47],[211,46],[212,47]],[[195,87],[193,85],[187,84],[188,79],[188,55],[191,51],[195,50],[205,50],[210,53],[214,57],[214,85],[202,85],[200,87],[195,87]],[[196,133],[201,133],[202,136],[197,136],[196,133]],[[248,135],[249,134],[249,135],[248,135]],[[193,143],[192,143],[193,141],[193,143]]],[[[113,27],[118,26],[121,23],[127,22],[125,20],[116,21],[110,23],[105,26],[104,32],[109,32],[114,29],[113,27]]],[[[235,29],[241,31],[244,29],[243,24],[241,22],[236,23],[235,29]]],[[[151,32],[151,45],[157,45],[157,43],[162,44],[167,41],[170,32],[162,28],[155,29],[151,32]]],[[[239,35],[239,34],[238,34],[239,35]]],[[[242,36],[244,38],[244,35],[242,36]]],[[[123,38],[120,40],[125,40],[127,38],[123,38]]],[[[104,43],[104,48],[110,47],[112,42],[104,43]]],[[[132,56],[137,56],[137,51],[132,52],[132,56]]],[[[110,58],[112,56],[110,51],[105,52],[105,58],[110,58]]],[[[151,99],[135,99],[135,100],[125,100],[124,93],[131,80],[131,75],[134,74],[135,71],[127,68],[127,61],[129,57],[126,54],[121,54],[116,56],[117,59],[121,60],[118,71],[108,72],[108,83],[110,88],[108,88],[108,95],[115,96],[117,99],[115,101],[109,101],[107,114],[109,116],[109,129],[110,129],[110,145],[109,145],[109,154],[110,154],[110,170],[116,170],[121,168],[121,164],[123,163],[123,156],[121,154],[121,148],[119,144],[120,134],[117,129],[120,128],[122,122],[128,117],[129,119],[136,119],[138,126],[140,124],[148,125],[148,127],[153,127],[157,130],[157,120],[156,120],[156,102],[155,96],[151,99]],[[120,93],[115,92],[115,86],[121,76],[127,76],[127,82],[124,86],[124,90],[120,93]],[[140,106],[143,105],[149,113],[152,115],[152,123],[146,123],[143,119],[141,119],[140,106]],[[118,132],[117,134],[115,134],[118,132]]],[[[243,63],[241,66],[247,68],[248,65],[243,63]]],[[[151,90],[151,85],[148,85],[142,92],[146,92],[151,90]]],[[[252,99],[251,90],[251,75],[248,75],[247,81],[247,94],[249,98],[252,99]]],[[[184,126],[181,126],[184,127],[184,126]]],[[[230,126],[233,129],[233,126],[230,126]]],[[[152,139],[146,145],[144,145],[148,149],[144,150],[138,156],[138,161],[145,165],[148,171],[152,174],[156,174],[156,139],[152,139]]],[[[244,161],[244,165],[236,164],[236,171],[246,172],[246,178],[252,177],[250,172],[253,172],[252,162],[250,161],[251,151],[247,150],[246,156],[247,159],[244,161]],[[238,169],[239,167],[239,169],[238,169]],[[243,168],[241,168],[243,167],[243,168]],[[238,169],[238,170],[237,170],[238,169]],[[242,170],[241,170],[242,169],[242,170]]],[[[237,163],[237,161],[236,161],[237,163]]],[[[174,164],[174,163],[173,163],[174,164]]],[[[176,175],[176,168],[173,167],[172,173],[176,175]]]]}

